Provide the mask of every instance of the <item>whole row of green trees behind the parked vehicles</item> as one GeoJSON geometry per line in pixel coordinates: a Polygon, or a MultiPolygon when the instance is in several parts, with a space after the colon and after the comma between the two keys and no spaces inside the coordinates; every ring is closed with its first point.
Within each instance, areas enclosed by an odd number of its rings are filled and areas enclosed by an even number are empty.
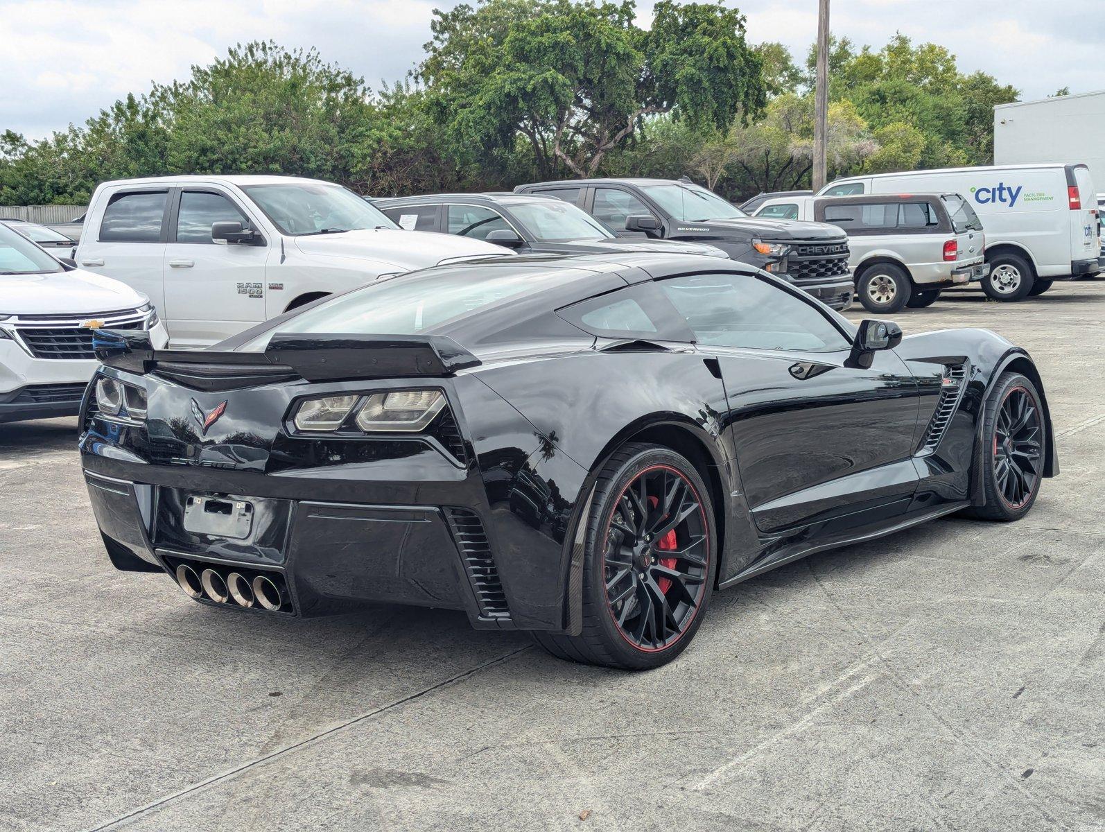
{"type": "MultiPolygon", "coordinates": [[[[833,38],[829,65],[830,176],[989,164],[992,108],[1018,96],[901,34],[833,38]]],[[[733,198],[808,187],[812,73],[812,52],[799,65],[748,44],[722,4],[661,0],[643,27],[633,0],[480,0],[435,12],[417,72],[376,91],[314,50],[256,42],[45,139],[2,131],[0,204],[176,172],[373,196],[600,173],[690,175],[733,198]]]]}

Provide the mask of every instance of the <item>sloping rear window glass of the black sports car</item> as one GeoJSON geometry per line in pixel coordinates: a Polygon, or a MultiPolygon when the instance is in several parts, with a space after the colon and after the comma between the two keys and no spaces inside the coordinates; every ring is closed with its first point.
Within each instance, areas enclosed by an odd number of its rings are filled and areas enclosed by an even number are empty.
{"type": "Polygon", "coordinates": [[[248,341],[240,349],[262,351],[276,331],[419,335],[534,287],[534,277],[529,272],[493,274],[482,280],[472,280],[467,270],[396,277],[312,307],[248,341]]]}

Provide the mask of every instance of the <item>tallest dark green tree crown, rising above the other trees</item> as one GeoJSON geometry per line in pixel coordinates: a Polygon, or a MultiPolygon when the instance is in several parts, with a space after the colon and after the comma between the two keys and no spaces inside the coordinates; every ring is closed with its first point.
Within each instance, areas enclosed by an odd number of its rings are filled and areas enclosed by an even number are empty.
{"type": "Polygon", "coordinates": [[[650,116],[728,125],[765,101],[744,17],[722,6],[661,0],[649,30],[632,0],[483,0],[436,11],[419,77],[456,145],[514,148],[540,176],[600,168],[650,116]]]}

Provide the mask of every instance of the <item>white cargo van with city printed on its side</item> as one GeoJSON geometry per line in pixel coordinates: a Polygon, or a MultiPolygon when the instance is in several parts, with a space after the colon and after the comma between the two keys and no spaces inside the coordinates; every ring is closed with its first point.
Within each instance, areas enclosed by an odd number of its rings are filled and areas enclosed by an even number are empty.
{"type": "Polygon", "coordinates": [[[1085,165],[1010,165],[848,177],[819,197],[961,193],[986,228],[986,294],[1020,301],[1053,281],[1095,274],[1101,243],[1094,186],[1085,165]]]}

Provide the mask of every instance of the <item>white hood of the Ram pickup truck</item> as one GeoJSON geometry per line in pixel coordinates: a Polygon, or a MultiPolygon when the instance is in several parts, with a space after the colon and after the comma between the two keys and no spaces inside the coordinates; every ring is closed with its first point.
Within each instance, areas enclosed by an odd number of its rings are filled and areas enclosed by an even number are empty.
{"type": "Polygon", "coordinates": [[[304,254],[391,263],[404,270],[435,266],[453,257],[509,256],[514,252],[482,240],[399,229],[361,229],[295,238],[304,254]]]}

